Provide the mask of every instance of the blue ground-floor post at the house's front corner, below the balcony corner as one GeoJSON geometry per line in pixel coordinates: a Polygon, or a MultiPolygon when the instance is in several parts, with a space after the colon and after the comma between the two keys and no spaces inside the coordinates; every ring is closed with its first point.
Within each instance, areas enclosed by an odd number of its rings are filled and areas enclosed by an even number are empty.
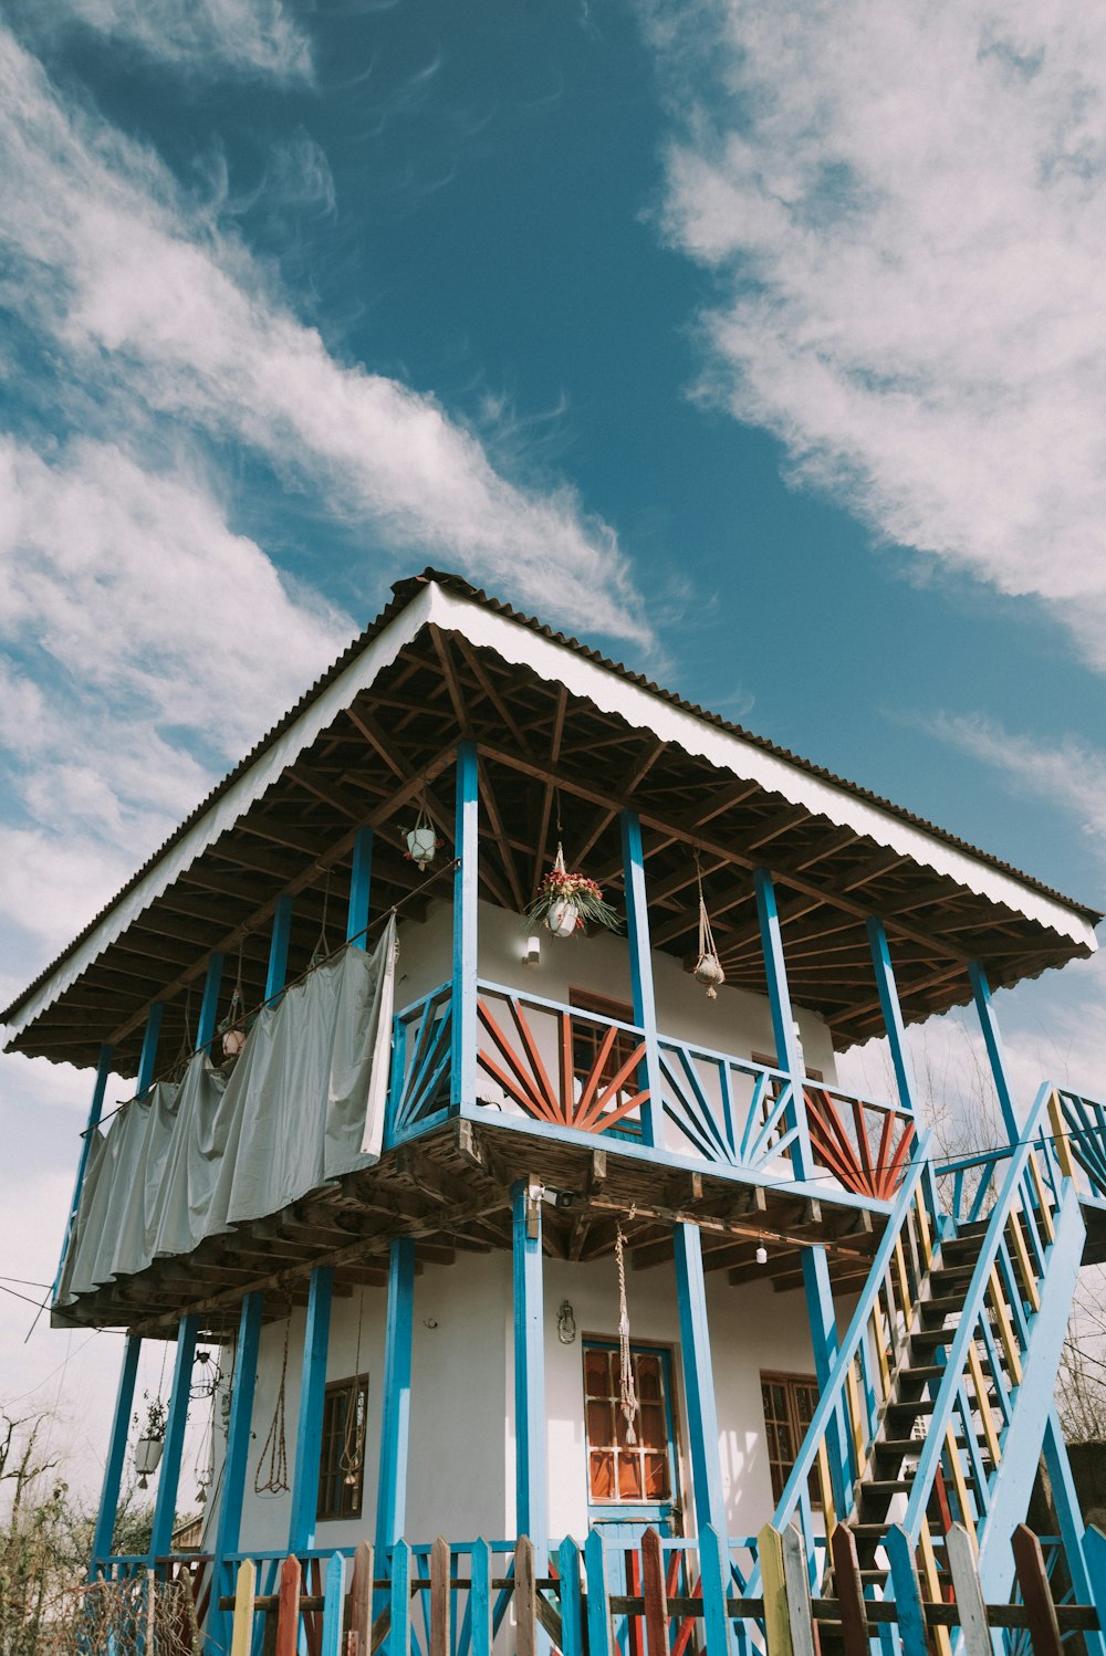
{"type": "Polygon", "coordinates": [[[515,1533],[528,1535],[545,1575],[548,1471],[545,1426],[545,1313],[541,1280],[541,1187],[512,1187],[515,1280],[515,1533]]]}

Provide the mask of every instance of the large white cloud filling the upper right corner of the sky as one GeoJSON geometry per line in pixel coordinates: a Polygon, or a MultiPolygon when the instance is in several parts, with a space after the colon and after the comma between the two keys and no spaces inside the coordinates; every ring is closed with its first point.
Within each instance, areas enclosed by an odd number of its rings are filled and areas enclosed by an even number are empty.
{"type": "Polygon", "coordinates": [[[1106,13],[642,3],[705,392],[1106,669],[1106,13]]]}

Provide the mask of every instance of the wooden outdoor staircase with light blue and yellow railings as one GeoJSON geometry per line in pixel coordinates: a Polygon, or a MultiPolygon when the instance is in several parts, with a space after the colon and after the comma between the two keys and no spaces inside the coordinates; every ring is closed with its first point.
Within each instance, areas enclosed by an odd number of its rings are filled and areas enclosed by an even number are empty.
{"type": "Polygon", "coordinates": [[[901,1525],[922,1598],[939,1600],[962,1524],[988,1596],[1008,1595],[1084,1235],[1055,1090],[1017,1144],[942,1166],[919,1144],[773,1515],[798,1524],[811,1588],[831,1583],[828,1537],[848,1522],[866,1590],[897,1596],[884,1537],[901,1525]]]}

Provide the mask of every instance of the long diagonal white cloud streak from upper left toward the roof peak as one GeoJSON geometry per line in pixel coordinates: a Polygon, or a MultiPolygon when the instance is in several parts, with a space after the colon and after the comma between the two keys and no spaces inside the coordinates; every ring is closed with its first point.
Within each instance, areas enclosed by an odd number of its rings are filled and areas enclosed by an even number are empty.
{"type": "Polygon", "coordinates": [[[161,162],[63,106],[0,33],[0,240],[15,303],[86,383],[245,442],[346,523],[445,560],[565,624],[647,643],[614,533],[527,490],[429,396],[343,364],[161,162]]]}

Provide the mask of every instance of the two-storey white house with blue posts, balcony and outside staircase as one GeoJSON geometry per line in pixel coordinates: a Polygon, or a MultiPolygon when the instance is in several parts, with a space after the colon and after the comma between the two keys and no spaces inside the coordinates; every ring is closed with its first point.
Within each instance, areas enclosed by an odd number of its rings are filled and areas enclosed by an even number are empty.
{"type": "Polygon", "coordinates": [[[692,1590],[707,1525],[753,1583],[798,1524],[818,1581],[849,1520],[881,1591],[899,1522],[940,1596],[962,1522],[1000,1600],[1041,1467],[1088,1601],[1053,1384],[1106,1114],[1012,1095],[992,995],[1098,919],[457,576],[399,583],[5,1012],[94,1076],[53,1305],[127,1331],[93,1572],[147,1563],[113,1525],[172,1340],[151,1560],[219,1365],[212,1648],[237,1560],[363,1537],[601,1527],[618,1560],[651,1524],[692,1590]],[[618,927],[571,889],[528,919],[551,871],[618,927]],[[1007,1143],[947,1164],[904,1028],[969,1004],[1007,1143]],[[854,1096],[834,1057],[874,1035],[894,1085],[854,1096]]]}

